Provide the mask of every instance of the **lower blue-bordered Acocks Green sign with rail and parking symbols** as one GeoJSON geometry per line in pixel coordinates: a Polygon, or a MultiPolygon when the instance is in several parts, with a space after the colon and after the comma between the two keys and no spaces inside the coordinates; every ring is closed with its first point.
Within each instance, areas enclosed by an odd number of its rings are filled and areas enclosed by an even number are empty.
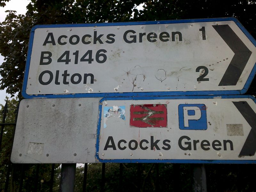
{"type": "Polygon", "coordinates": [[[255,163],[252,96],[126,97],[101,102],[96,143],[100,162],[255,163]]]}

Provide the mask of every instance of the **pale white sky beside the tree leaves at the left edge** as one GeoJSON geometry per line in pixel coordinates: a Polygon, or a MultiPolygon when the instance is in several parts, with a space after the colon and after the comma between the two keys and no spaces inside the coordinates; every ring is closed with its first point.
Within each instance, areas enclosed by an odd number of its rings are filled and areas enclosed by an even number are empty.
{"type": "MultiPolygon", "coordinates": [[[[0,22],[3,22],[5,20],[5,17],[7,13],[5,12],[6,10],[14,10],[17,11],[16,14],[23,14],[27,12],[27,5],[29,4],[30,0],[10,0],[9,2],[6,2],[6,6],[0,7],[0,22]]],[[[0,64],[4,62],[4,57],[0,54],[0,64]]],[[[0,78],[2,78],[0,76],[0,78]]],[[[0,90],[0,103],[5,104],[5,96],[9,96],[6,94],[5,90],[0,90]]]]}

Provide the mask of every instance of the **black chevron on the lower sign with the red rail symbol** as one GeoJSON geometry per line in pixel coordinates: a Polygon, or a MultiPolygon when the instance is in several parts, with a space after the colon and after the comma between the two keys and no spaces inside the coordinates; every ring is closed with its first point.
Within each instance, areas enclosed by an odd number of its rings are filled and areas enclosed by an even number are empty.
{"type": "Polygon", "coordinates": [[[256,152],[256,114],[246,101],[233,101],[238,111],[252,127],[239,156],[254,156],[256,152]]]}

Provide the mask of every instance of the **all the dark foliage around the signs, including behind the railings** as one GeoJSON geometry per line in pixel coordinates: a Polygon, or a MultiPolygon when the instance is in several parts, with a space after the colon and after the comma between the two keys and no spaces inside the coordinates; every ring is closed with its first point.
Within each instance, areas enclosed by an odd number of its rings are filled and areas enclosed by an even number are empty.
{"type": "MultiPolygon", "coordinates": [[[[4,6],[9,0],[0,0],[4,6]]],[[[0,66],[0,89],[14,96],[19,93],[23,82],[27,59],[30,30],[38,24],[97,23],[147,20],[176,20],[236,17],[244,27],[256,37],[256,1],[255,0],[31,0],[26,15],[16,15],[8,11],[4,22],[0,24],[0,53],[4,62],[0,66]],[[143,5],[138,10],[138,5],[143,5]]],[[[248,94],[256,95],[256,81],[253,80],[248,94]]],[[[14,122],[17,100],[9,100],[9,113],[6,122],[14,122]]],[[[3,107],[3,106],[2,106],[3,107]]],[[[1,115],[0,115],[1,117],[1,115]]],[[[12,126],[5,126],[4,140],[0,156],[0,189],[4,188],[5,173],[11,153],[12,126]],[[4,146],[4,147],[3,147],[4,146]]],[[[191,165],[159,164],[123,164],[122,191],[191,191],[191,165]],[[140,171],[138,171],[140,170],[140,171]]],[[[40,165],[39,177],[35,181],[36,164],[26,164],[23,191],[35,191],[35,182],[42,191],[48,191],[50,185],[50,164],[40,165]],[[40,183],[44,180],[44,183],[40,183]]],[[[17,191],[20,165],[12,164],[10,191],[17,191]]],[[[254,165],[206,165],[208,191],[255,191],[254,165]],[[243,174],[242,174],[243,172],[243,174]],[[224,187],[223,187],[224,186],[224,187]]],[[[83,168],[76,170],[76,191],[82,191],[83,168]]],[[[106,165],[106,191],[119,191],[119,164],[106,165]]],[[[55,167],[53,191],[58,191],[60,167],[55,167]]],[[[101,164],[88,164],[87,191],[100,191],[101,164]]]]}

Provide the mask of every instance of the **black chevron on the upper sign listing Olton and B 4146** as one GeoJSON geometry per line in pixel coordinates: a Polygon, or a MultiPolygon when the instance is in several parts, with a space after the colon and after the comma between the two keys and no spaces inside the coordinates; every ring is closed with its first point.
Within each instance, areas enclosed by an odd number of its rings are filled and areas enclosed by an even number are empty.
{"type": "Polygon", "coordinates": [[[236,85],[252,52],[228,25],[212,26],[235,53],[219,86],[236,85]]]}

